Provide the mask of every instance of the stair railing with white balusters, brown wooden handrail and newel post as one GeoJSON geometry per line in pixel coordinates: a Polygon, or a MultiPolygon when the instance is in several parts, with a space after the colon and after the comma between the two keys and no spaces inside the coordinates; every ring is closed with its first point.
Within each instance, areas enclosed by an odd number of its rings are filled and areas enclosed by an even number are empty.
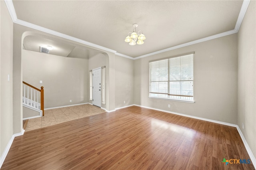
{"type": "Polygon", "coordinates": [[[23,81],[22,105],[44,116],[44,87],[38,89],[23,81]]]}

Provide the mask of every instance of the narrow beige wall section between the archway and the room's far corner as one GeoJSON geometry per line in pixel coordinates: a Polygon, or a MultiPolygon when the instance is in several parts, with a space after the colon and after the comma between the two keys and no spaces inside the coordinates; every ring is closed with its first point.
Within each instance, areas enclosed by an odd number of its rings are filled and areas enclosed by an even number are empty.
{"type": "Polygon", "coordinates": [[[115,62],[115,107],[133,105],[134,60],[116,55],[115,62]]]}

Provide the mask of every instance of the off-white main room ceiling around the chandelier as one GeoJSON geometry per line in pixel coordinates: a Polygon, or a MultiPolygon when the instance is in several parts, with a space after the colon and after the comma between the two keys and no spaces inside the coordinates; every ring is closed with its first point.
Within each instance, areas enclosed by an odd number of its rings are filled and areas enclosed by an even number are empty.
{"type": "Polygon", "coordinates": [[[243,3],[242,0],[12,2],[18,20],[130,57],[234,30],[243,3]],[[146,36],[143,45],[124,42],[134,23],[138,24],[137,31],[142,30],[146,36]]]}

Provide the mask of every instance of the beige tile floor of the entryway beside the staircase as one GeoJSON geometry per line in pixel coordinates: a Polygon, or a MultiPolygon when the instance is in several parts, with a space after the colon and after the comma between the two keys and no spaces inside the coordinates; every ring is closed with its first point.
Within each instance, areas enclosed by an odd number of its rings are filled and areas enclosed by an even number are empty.
{"type": "Polygon", "coordinates": [[[100,109],[100,107],[90,104],[44,110],[43,117],[28,120],[25,131],[47,127],[58,123],[63,123],[104,112],[105,111],[103,109],[100,109]]]}

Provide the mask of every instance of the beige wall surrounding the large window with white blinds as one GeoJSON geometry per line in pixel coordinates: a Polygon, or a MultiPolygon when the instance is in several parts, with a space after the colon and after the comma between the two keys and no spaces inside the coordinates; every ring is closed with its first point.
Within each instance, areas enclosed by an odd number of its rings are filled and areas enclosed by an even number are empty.
{"type": "Polygon", "coordinates": [[[135,104],[237,123],[237,34],[136,59],[134,62],[135,104]],[[195,103],[150,99],[148,61],[191,51],[195,51],[195,103]],[[171,105],[170,108],[168,104],[171,105]]]}

